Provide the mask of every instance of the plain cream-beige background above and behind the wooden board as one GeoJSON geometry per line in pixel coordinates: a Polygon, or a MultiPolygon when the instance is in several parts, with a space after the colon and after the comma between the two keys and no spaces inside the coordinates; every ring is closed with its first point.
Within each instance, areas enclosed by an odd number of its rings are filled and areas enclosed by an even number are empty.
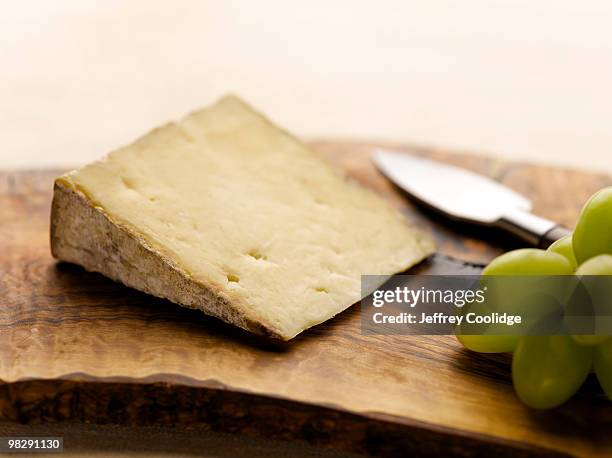
{"type": "Polygon", "coordinates": [[[232,91],[303,137],[612,171],[612,2],[4,1],[0,167],[82,164],[232,91]]]}

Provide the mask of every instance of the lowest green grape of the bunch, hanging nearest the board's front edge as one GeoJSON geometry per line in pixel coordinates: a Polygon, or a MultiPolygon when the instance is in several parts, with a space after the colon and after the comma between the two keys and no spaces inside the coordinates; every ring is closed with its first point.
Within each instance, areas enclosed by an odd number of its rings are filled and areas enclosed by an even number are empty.
{"type": "Polygon", "coordinates": [[[568,336],[524,336],[512,358],[514,389],[529,407],[550,409],[578,391],[592,360],[592,348],[568,336]]]}

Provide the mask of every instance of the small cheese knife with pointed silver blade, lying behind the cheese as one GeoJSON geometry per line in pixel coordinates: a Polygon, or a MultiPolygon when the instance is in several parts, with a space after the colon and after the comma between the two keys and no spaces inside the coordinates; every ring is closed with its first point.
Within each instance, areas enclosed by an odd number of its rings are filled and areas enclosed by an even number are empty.
{"type": "Polygon", "coordinates": [[[547,248],[570,230],[531,213],[529,199],[478,173],[389,150],[372,157],[378,169],[418,203],[451,220],[498,227],[547,248]]]}

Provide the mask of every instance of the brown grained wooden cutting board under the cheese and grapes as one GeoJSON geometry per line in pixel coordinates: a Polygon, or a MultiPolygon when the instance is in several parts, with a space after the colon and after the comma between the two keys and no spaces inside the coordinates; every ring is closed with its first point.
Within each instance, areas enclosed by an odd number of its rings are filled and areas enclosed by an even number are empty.
{"type": "MultiPolygon", "coordinates": [[[[372,167],[374,145],[313,146],[403,209],[442,254],[486,262],[517,246],[413,207],[372,167]]],[[[403,150],[492,176],[569,226],[612,183],[403,150]]],[[[0,173],[0,419],[212,428],[380,455],[612,454],[612,404],[592,378],[566,405],[538,412],[517,400],[507,356],[468,352],[452,336],[362,336],[358,306],[278,344],[56,263],[48,225],[60,172],[0,173]]]]}

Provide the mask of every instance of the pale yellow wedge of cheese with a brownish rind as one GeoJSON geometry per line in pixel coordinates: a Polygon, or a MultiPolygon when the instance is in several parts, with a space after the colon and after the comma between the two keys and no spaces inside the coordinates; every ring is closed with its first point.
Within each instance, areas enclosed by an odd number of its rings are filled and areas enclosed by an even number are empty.
{"type": "Polygon", "coordinates": [[[59,177],[53,255],[283,340],[401,272],[429,239],[227,96],[59,177]]]}

